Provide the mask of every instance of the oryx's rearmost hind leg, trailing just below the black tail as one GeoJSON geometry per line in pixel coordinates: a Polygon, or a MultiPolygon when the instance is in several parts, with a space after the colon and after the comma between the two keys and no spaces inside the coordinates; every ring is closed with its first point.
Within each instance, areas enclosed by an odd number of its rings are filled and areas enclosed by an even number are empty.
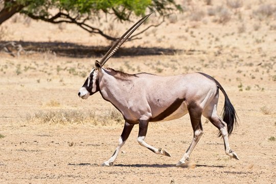
{"type": "Polygon", "coordinates": [[[222,121],[217,114],[217,99],[218,98],[214,98],[209,106],[204,109],[202,114],[205,118],[208,118],[215,127],[219,129],[220,134],[223,137],[225,154],[231,158],[239,159],[237,153],[229,146],[227,124],[222,121]]]}

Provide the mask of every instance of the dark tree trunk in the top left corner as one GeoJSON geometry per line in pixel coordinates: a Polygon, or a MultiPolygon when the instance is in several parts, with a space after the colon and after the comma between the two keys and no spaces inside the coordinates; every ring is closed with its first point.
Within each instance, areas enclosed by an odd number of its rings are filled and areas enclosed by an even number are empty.
{"type": "Polygon", "coordinates": [[[9,6],[5,6],[0,11],[0,25],[15,13],[19,12],[22,8],[24,8],[24,5],[17,4],[16,1],[10,1],[9,6]]]}

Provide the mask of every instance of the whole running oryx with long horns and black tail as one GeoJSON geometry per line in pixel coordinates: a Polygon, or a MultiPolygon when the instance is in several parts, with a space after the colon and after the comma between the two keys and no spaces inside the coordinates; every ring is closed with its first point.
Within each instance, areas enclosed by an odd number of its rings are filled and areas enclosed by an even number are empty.
{"type": "Polygon", "coordinates": [[[194,136],[191,145],[176,166],[185,166],[188,163],[191,152],[203,134],[201,115],[219,129],[226,155],[239,159],[237,153],[230,149],[228,142],[228,135],[237,124],[236,111],[216,79],[203,73],[166,77],[147,73],[132,75],[102,67],[151,14],[136,22],[100,61],[95,62],[95,67],[78,93],[80,98],[87,99],[99,91],[103,99],[112,103],[125,119],[119,144],[102,166],[113,164],[135,124],[139,124],[137,141],[141,146],[156,154],[170,156],[166,150],[154,148],[145,142],[148,124],[178,119],[187,113],[190,115],[194,136]],[[222,119],[217,114],[219,89],[225,98],[222,119]]]}

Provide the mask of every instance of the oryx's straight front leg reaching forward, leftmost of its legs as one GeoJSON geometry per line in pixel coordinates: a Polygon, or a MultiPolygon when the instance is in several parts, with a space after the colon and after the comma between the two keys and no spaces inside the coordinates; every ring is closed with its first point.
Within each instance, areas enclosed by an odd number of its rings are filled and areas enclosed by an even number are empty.
{"type": "Polygon", "coordinates": [[[105,161],[102,166],[110,166],[113,164],[113,162],[115,161],[120,149],[123,147],[123,145],[125,144],[132,128],[133,128],[134,124],[129,124],[127,122],[125,122],[125,126],[124,126],[124,129],[123,129],[123,132],[119,138],[119,143],[118,143],[118,146],[116,148],[116,150],[114,151],[113,155],[107,160],[105,161]]]}

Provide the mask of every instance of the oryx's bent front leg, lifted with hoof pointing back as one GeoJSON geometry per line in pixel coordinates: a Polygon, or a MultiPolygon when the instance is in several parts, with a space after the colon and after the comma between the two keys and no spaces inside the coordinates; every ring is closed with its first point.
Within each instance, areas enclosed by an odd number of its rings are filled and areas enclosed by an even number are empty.
{"type": "Polygon", "coordinates": [[[148,131],[148,125],[149,125],[149,121],[148,120],[140,120],[139,121],[139,134],[138,134],[138,138],[137,141],[141,146],[144,146],[146,148],[148,148],[149,150],[151,150],[153,153],[155,154],[160,154],[160,155],[165,155],[165,156],[171,156],[166,150],[162,149],[162,148],[154,148],[150,145],[148,145],[144,140],[148,131]]]}

